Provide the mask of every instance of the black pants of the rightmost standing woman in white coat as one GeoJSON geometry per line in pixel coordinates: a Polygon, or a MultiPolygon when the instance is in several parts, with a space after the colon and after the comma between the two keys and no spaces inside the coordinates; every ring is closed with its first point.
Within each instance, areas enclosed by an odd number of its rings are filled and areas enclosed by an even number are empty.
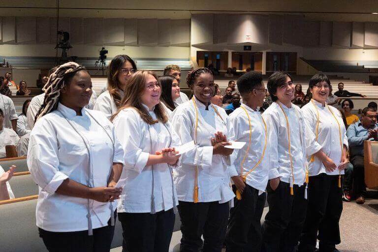
{"type": "Polygon", "coordinates": [[[338,175],[322,173],[309,177],[309,205],[299,241],[300,252],[315,251],[316,237],[322,252],[333,252],[335,245],[340,243],[339,220],[343,200],[338,182],[338,175]]]}

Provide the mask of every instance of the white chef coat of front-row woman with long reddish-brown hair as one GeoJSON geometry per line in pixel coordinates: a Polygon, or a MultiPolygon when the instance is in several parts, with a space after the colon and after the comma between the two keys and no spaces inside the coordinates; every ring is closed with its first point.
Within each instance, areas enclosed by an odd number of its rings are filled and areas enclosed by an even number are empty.
{"type": "MultiPolygon", "coordinates": [[[[147,106],[145,108],[148,110],[147,106]]],[[[152,118],[157,118],[153,111],[149,113],[152,118]]],[[[178,205],[168,164],[146,165],[150,154],[155,155],[163,148],[181,145],[172,126],[169,123],[165,126],[162,123],[149,126],[131,107],[122,110],[113,124],[125,151],[125,167],[120,182],[125,181],[126,185],[122,190],[118,212],[150,213],[152,190],[156,212],[167,211],[178,205]],[[175,202],[172,193],[175,193],[175,202]]]]}

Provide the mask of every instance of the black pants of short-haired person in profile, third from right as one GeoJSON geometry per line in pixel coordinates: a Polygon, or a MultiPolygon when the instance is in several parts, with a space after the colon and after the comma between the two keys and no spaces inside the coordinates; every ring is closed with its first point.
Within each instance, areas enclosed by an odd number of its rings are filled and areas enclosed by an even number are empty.
{"type": "MultiPolygon", "coordinates": [[[[233,186],[234,191],[236,190],[233,186]]],[[[234,199],[226,232],[226,252],[260,252],[261,216],[265,205],[265,192],[246,185],[242,199],[234,199]]]]}

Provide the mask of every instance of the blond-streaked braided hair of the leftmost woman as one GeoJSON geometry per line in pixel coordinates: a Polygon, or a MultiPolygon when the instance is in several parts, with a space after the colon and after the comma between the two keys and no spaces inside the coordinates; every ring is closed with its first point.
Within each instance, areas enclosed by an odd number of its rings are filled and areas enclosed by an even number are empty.
{"type": "Polygon", "coordinates": [[[42,89],[45,92],[45,99],[38,113],[35,115],[35,121],[57,109],[62,88],[80,70],[86,69],[75,62],[67,62],[53,69],[47,83],[42,89]]]}

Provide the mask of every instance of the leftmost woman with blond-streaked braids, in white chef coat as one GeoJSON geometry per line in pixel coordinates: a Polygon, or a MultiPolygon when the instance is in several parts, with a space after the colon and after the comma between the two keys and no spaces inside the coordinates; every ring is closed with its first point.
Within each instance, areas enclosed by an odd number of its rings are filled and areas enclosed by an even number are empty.
{"type": "Polygon", "coordinates": [[[28,150],[39,236],[49,252],[108,252],[124,152],[105,115],[85,108],[92,82],[83,66],[58,66],[44,89],[28,150]]]}

